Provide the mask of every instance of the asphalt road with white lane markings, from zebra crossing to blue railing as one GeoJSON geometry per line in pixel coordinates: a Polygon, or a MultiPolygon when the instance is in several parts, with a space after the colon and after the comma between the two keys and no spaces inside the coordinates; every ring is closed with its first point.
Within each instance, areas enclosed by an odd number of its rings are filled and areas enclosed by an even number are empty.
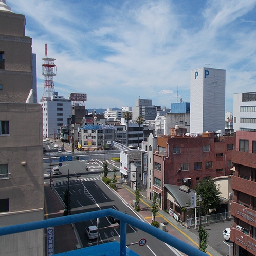
{"type": "MultiPolygon", "coordinates": [[[[127,204],[124,204],[122,200],[112,192],[112,190],[103,184],[103,182],[98,178],[98,175],[95,176],[88,173],[88,175],[84,176],[83,179],[83,181],[71,180],[69,183],[69,190],[71,193],[71,211],[73,214],[113,208],[139,218],[139,216],[137,216],[136,213],[129,206],[127,206],[127,204]]],[[[55,187],[60,196],[63,196],[63,193],[67,188],[67,182],[58,181],[56,182],[55,187]]],[[[107,243],[114,240],[120,242],[120,229],[112,229],[109,227],[110,224],[111,222],[109,221],[109,218],[100,218],[99,243],[107,243]]],[[[97,239],[89,240],[85,235],[85,228],[92,225],[97,226],[96,219],[76,224],[79,237],[84,247],[97,244],[97,239]]],[[[176,255],[166,244],[157,240],[155,237],[129,225],[127,226],[126,238],[127,245],[132,244],[129,245],[129,248],[139,255],[176,255]],[[145,238],[147,240],[145,246],[134,244],[141,238],[145,238]],[[161,249],[159,250],[159,248],[161,249]]]]}

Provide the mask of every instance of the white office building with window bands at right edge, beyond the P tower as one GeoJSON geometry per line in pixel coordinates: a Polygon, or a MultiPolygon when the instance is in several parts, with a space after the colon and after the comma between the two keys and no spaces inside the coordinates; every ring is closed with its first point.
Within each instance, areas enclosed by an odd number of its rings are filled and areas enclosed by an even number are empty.
{"type": "Polygon", "coordinates": [[[234,132],[256,131],[256,92],[234,94],[233,112],[234,132]]]}

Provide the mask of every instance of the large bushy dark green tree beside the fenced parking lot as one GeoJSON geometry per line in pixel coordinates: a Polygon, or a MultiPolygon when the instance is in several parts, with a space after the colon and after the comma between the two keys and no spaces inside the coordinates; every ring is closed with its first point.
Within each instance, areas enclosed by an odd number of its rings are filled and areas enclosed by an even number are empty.
{"type": "Polygon", "coordinates": [[[199,180],[195,187],[197,195],[201,195],[201,209],[204,215],[208,215],[210,210],[214,211],[220,205],[220,190],[211,178],[199,180]]]}

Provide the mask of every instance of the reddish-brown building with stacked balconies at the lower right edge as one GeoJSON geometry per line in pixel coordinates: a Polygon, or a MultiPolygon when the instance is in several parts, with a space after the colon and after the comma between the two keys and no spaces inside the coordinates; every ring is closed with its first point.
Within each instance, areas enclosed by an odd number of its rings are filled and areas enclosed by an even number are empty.
{"type": "Polygon", "coordinates": [[[231,177],[230,239],[233,255],[256,255],[256,132],[236,131],[236,150],[232,151],[235,174],[231,177]]]}

